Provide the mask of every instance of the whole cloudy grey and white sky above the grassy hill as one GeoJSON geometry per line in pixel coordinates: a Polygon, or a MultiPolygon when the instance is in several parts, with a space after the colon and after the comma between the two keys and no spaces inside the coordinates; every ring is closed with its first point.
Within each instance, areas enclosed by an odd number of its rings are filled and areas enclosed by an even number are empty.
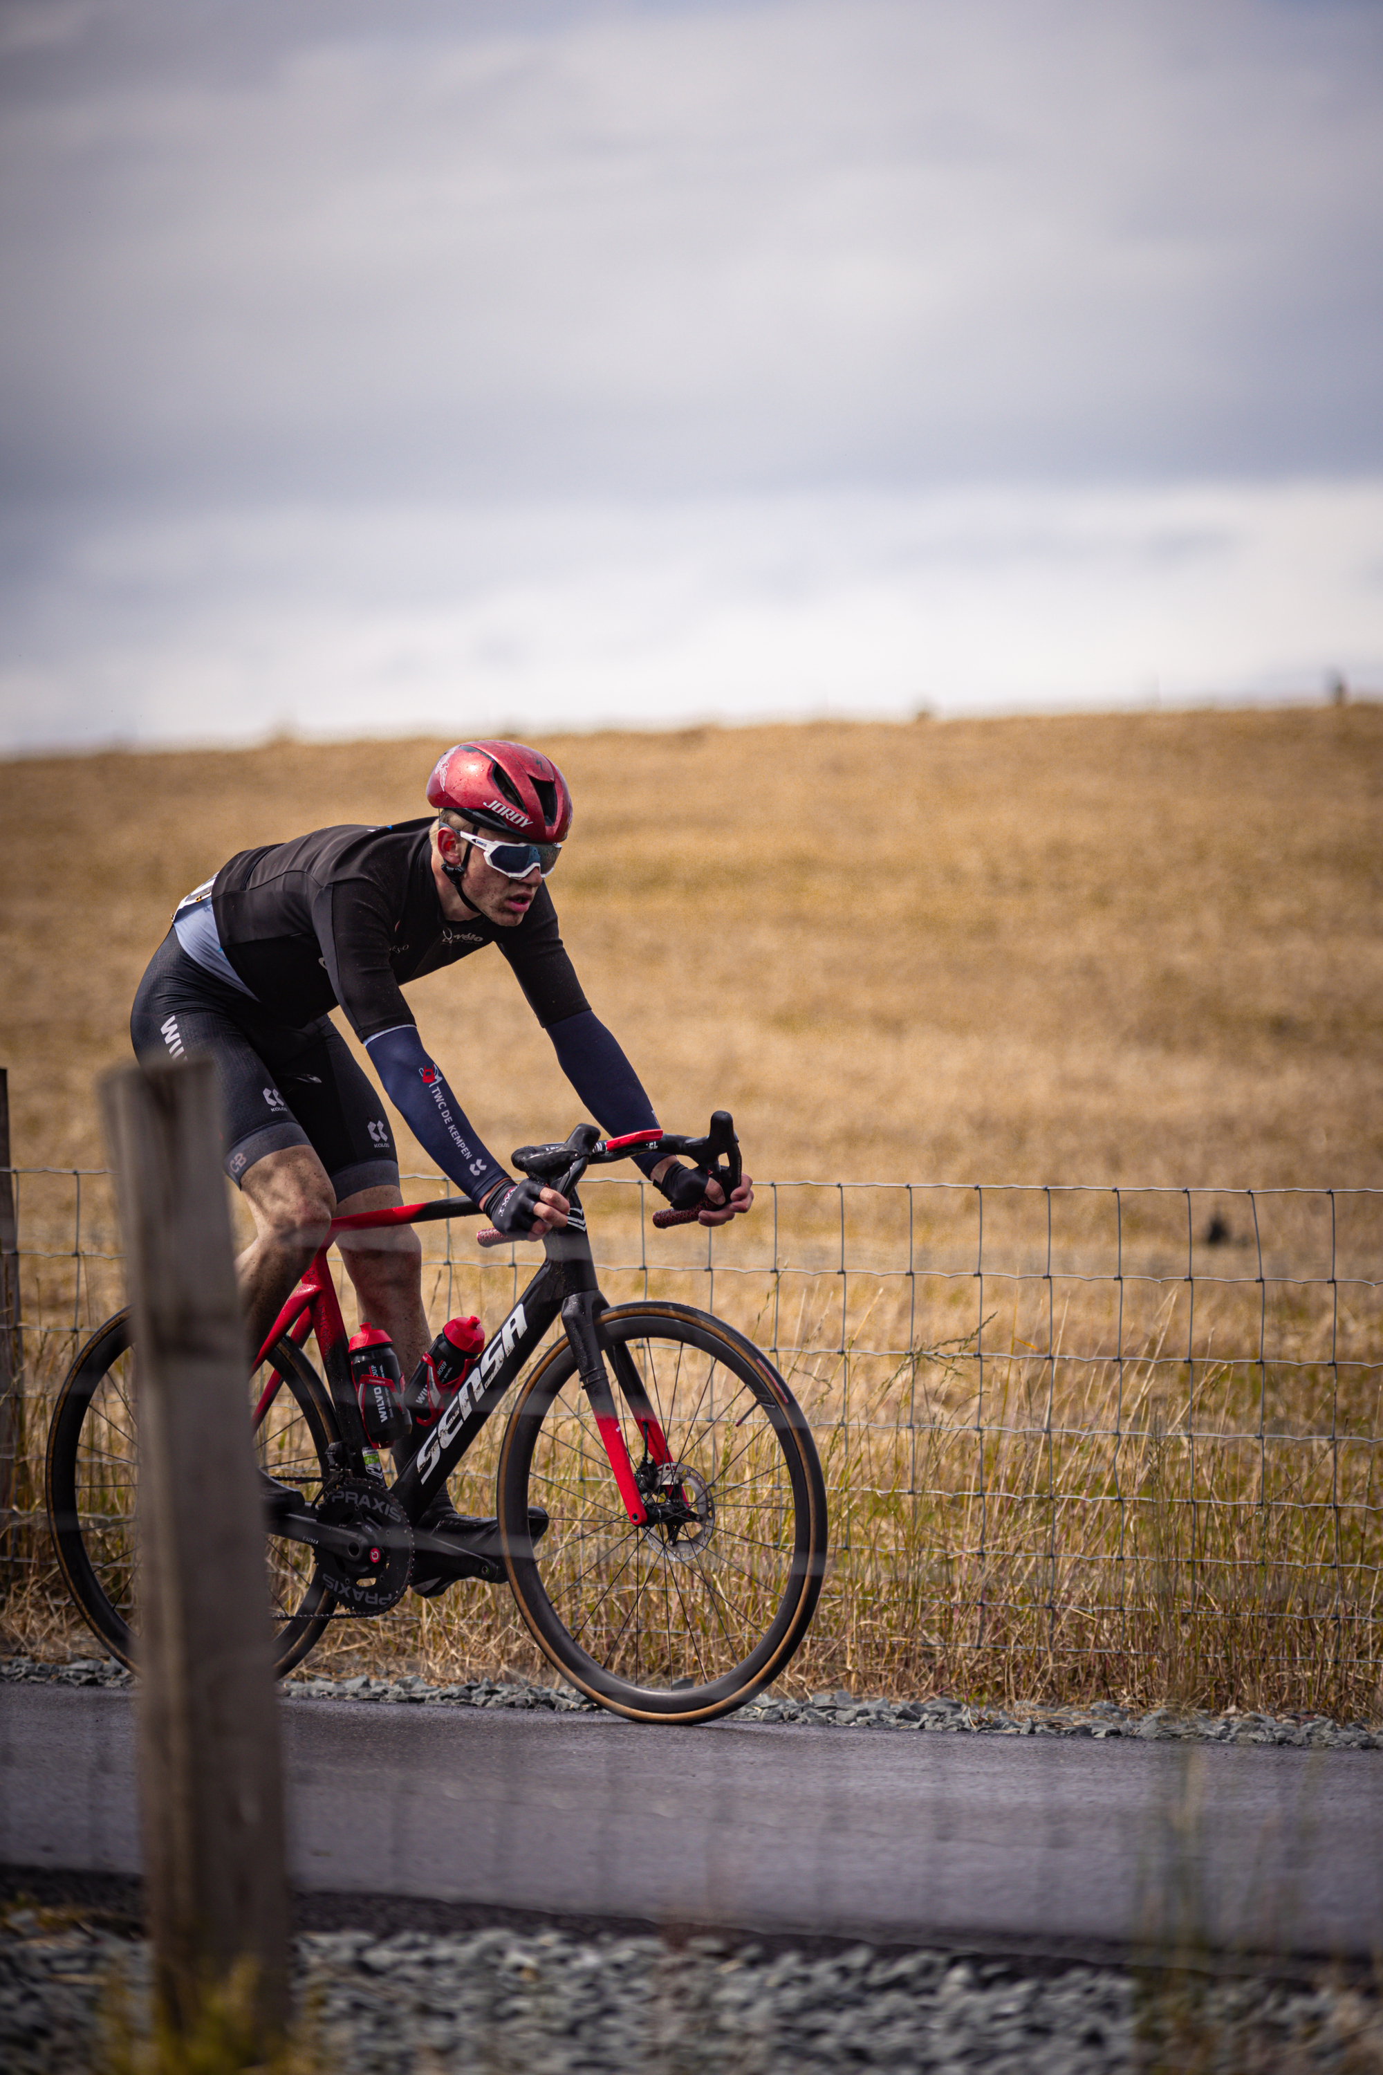
{"type": "Polygon", "coordinates": [[[1379,0],[0,0],[0,749],[1383,689],[1379,0]]]}

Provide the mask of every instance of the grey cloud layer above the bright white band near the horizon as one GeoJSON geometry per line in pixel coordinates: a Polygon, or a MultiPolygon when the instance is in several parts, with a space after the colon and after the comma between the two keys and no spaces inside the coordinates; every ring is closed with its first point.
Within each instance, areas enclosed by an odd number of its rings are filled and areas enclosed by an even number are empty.
{"type": "Polygon", "coordinates": [[[10,6],[10,494],[1383,463],[1383,12],[10,6]]]}

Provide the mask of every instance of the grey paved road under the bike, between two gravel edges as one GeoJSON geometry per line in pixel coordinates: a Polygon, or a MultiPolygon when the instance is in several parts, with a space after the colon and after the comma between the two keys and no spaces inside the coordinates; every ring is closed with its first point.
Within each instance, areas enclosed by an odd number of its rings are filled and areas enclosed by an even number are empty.
{"type": "MultiPolygon", "coordinates": [[[[0,1863],[139,1870],[133,1704],[0,1687],[0,1863]]],[[[299,1888],[881,1942],[1383,1951],[1383,1753],[284,1704],[299,1888]]]]}

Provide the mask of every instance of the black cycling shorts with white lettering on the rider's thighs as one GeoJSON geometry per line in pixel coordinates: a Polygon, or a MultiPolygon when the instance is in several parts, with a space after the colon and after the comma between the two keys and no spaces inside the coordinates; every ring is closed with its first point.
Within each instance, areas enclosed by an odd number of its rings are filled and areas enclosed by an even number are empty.
{"type": "Polygon", "coordinates": [[[330,1017],[297,1029],[251,994],[207,973],[170,930],[139,981],[131,1011],[137,1058],[216,1060],[224,1166],[245,1170],[284,1145],[311,1145],[336,1201],[357,1189],[398,1187],[398,1150],[384,1100],[330,1017]]]}

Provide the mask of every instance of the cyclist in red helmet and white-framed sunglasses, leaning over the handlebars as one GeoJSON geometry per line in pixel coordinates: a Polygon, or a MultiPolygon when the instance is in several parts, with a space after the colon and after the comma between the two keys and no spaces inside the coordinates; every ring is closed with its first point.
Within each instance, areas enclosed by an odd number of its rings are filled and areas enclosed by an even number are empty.
{"type": "MultiPolygon", "coordinates": [[[[545,882],[572,820],[562,772],[523,743],[456,743],[438,759],[427,801],[433,811],[415,822],[317,828],[236,853],[178,905],[135,994],[139,1058],[216,1060],[224,1164],[255,1220],[236,1264],[251,1353],[332,1218],[402,1201],[384,1104],[328,1011],[342,1008],[448,1181],[512,1239],[564,1226],[566,1197],[531,1177],[514,1181],[481,1143],[423,1046],[402,984],[498,944],[595,1120],[612,1135],[657,1125],[558,932],[545,882]]],[[[753,1204],[749,1177],[726,1201],[701,1168],[647,1156],[639,1166],[703,1224],[753,1204]]],[[[429,1340],[421,1251],[413,1226],[342,1243],[361,1318],[390,1334],[404,1376],[429,1340]]],[[[487,1544],[493,1529],[446,1500],[425,1525],[462,1546],[487,1544]]]]}

